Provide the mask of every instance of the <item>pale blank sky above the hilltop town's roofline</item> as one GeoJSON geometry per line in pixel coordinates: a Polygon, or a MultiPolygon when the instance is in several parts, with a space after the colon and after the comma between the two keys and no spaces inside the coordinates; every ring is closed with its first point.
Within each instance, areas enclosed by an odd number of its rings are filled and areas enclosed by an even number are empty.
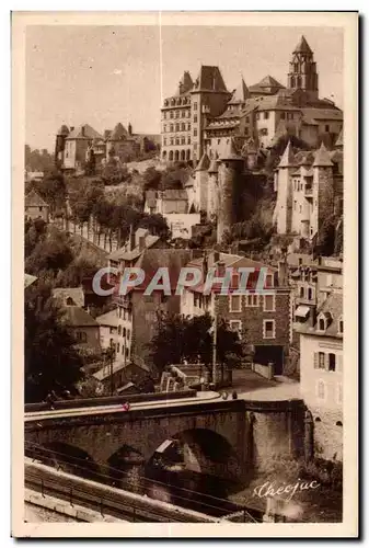
{"type": "Polygon", "coordinates": [[[321,98],[343,106],[343,31],[298,26],[76,26],[26,30],[26,142],[55,146],[61,124],[103,133],[130,122],[134,133],[160,133],[160,107],[184,70],[217,65],[232,91],[266,75],[287,83],[291,53],[303,34],[314,52],[321,98]]]}

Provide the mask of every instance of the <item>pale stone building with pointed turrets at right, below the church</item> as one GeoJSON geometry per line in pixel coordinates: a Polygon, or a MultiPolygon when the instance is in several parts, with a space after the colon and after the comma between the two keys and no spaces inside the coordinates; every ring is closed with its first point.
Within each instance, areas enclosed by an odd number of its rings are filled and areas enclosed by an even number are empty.
{"type": "Polygon", "coordinates": [[[275,172],[278,233],[313,239],[325,219],[343,208],[343,152],[323,141],[312,151],[293,152],[289,141],[275,172]]]}

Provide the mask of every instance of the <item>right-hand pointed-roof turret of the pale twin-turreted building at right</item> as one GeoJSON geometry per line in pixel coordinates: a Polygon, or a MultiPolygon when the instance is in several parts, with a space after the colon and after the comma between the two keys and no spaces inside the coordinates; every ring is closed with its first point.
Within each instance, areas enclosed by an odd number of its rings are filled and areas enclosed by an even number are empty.
{"type": "Polygon", "coordinates": [[[313,215],[311,229],[313,237],[325,219],[334,213],[333,163],[324,142],[315,152],[313,163],[313,215]]]}

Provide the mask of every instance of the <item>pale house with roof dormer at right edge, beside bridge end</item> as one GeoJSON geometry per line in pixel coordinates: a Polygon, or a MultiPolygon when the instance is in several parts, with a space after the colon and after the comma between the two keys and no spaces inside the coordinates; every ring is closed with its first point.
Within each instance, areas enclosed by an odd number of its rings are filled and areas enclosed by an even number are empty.
{"type": "Polygon", "coordinates": [[[333,290],[300,328],[300,390],[313,416],[315,457],[343,459],[343,295],[333,290]]]}

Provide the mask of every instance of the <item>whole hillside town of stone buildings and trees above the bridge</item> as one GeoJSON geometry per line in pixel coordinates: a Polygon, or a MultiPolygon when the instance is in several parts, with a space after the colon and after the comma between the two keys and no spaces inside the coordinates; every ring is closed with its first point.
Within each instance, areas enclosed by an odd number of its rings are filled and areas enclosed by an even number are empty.
{"type": "Polygon", "coordinates": [[[26,162],[27,403],[256,388],[303,401],[313,477],[327,463],[339,477],[344,113],[320,98],[308,39],[292,46],[285,83],[231,90],[221,67],[184,70],[158,105],[160,135],[62,124],[53,168],[26,162]],[[107,267],[118,274],[96,295],[107,267]],[[161,267],[171,283],[231,269],[233,289],[242,269],[264,270],[264,293],[253,276],[246,295],[114,290],[125,269],[161,267]]]}

